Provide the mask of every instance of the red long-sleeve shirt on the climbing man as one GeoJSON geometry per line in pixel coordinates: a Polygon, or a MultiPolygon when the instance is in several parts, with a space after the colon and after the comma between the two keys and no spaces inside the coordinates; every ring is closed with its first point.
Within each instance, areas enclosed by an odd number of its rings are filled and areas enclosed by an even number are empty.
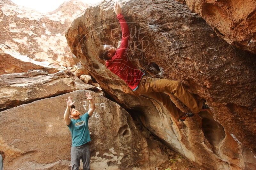
{"type": "Polygon", "coordinates": [[[130,38],[129,28],[122,14],[118,14],[117,19],[122,30],[121,45],[116,50],[115,55],[106,62],[106,67],[124,80],[132,90],[136,90],[144,73],[134,67],[128,59],[126,50],[130,38]]]}

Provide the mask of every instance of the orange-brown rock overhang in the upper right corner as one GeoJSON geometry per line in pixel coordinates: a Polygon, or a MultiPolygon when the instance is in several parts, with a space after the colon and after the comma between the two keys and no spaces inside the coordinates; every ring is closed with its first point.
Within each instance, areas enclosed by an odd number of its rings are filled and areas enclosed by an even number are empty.
{"type": "Polygon", "coordinates": [[[181,0],[238,48],[256,53],[256,1],[181,0]]]}

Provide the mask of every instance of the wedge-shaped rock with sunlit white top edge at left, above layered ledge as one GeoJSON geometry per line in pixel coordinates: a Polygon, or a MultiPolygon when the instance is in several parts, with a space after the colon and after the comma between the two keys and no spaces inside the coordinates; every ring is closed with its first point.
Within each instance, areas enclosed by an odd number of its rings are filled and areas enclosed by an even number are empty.
{"type": "Polygon", "coordinates": [[[49,65],[44,61],[35,61],[27,56],[13,51],[9,46],[0,45],[0,75],[9,73],[24,73],[28,70],[40,69],[48,73],[56,73],[63,67],[49,65]]]}

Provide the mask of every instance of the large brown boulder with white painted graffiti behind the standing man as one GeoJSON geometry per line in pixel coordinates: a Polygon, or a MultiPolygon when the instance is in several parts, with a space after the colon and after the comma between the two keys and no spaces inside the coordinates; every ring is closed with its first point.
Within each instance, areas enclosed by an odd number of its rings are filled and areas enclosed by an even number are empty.
{"type": "MultiPolygon", "coordinates": [[[[70,169],[71,135],[63,118],[72,96],[81,113],[89,109],[85,90],[38,100],[0,112],[0,147],[6,169],[70,169]]],[[[91,169],[155,169],[168,159],[161,143],[146,139],[132,117],[104,96],[91,92],[96,110],[89,119],[91,169]]]]}

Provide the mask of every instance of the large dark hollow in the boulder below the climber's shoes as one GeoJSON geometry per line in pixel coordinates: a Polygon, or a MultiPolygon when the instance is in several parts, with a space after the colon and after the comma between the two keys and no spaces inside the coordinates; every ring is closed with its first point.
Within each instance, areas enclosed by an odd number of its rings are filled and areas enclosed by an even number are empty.
{"type": "Polygon", "coordinates": [[[207,111],[201,111],[198,114],[202,118],[202,130],[205,138],[208,139],[211,145],[219,145],[225,137],[223,126],[216,122],[207,111]]]}

